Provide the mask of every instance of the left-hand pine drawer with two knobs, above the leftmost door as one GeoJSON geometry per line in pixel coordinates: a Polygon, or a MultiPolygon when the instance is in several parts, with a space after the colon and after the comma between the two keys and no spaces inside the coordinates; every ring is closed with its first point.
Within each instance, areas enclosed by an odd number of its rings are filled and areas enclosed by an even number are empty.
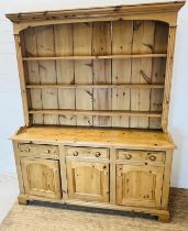
{"type": "Polygon", "coordinates": [[[58,155],[58,146],[43,144],[20,144],[21,154],[58,155]]]}

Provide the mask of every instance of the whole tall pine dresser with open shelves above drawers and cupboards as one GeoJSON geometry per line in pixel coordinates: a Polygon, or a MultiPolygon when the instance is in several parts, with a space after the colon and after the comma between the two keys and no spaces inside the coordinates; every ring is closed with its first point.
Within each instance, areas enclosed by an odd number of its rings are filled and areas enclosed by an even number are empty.
{"type": "Polygon", "coordinates": [[[167,132],[184,1],[7,14],[25,127],[12,136],[19,202],[168,221],[167,132]]]}

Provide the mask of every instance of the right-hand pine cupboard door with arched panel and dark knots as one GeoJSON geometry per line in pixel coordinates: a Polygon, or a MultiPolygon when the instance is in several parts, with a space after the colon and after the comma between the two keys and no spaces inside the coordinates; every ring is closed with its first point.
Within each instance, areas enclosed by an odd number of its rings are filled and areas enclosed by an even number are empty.
{"type": "Polygon", "coordinates": [[[164,168],[117,165],[117,204],[161,207],[164,168]]]}

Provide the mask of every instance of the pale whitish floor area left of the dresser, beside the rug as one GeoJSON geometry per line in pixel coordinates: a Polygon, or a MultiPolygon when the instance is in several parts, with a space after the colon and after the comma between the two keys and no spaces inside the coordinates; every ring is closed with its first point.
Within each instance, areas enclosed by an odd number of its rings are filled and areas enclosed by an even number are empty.
{"type": "Polygon", "coordinates": [[[18,194],[16,175],[0,173],[0,223],[15,202],[18,194]]]}

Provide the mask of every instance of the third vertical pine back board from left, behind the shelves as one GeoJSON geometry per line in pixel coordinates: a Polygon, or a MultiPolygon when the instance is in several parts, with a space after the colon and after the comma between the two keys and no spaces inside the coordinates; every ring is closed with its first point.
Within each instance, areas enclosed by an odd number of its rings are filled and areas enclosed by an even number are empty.
{"type": "MultiPolygon", "coordinates": [[[[73,25],[55,25],[55,52],[56,55],[73,55],[73,25]]],[[[73,61],[57,61],[56,73],[57,84],[74,84],[75,70],[73,61]]],[[[75,90],[58,89],[58,107],[59,109],[75,109],[75,90]]],[[[76,118],[73,114],[59,116],[60,125],[76,125],[76,118]]]]}

